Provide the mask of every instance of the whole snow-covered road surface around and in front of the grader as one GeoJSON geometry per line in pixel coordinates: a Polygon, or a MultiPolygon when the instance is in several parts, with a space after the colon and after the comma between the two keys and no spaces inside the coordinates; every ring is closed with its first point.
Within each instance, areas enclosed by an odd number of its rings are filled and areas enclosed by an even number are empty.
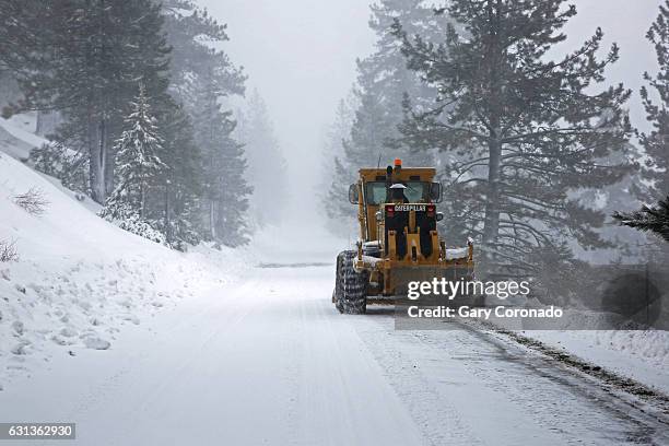
{"type": "Polygon", "coordinates": [[[0,394],[0,419],[75,422],[96,446],[669,444],[667,424],[508,341],[339,315],[332,275],[253,269],[109,351],[63,351],[0,394]]]}

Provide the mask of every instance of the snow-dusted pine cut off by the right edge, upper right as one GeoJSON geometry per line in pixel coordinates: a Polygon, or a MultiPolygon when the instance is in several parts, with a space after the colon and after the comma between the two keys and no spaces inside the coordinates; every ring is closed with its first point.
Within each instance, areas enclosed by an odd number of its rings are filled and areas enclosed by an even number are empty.
{"type": "Polygon", "coordinates": [[[641,90],[647,120],[653,124],[649,133],[639,134],[648,160],[643,175],[653,183],[645,197],[669,191],[669,1],[665,1],[659,10],[646,38],[655,47],[660,71],[655,77],[648,72],[644,73],[644,79],[659,96],[659,105],[653,101],[646,86],[641,90]]]}

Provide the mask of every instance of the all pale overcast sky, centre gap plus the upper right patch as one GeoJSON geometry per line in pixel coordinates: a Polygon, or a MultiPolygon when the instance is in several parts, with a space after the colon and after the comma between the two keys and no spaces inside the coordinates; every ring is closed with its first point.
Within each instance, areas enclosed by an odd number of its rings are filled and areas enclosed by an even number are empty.
{"type": "MultiPolygon", "coordinates": [[[[268,103],[289,163],[317,169],[322,129],[355,79],[355,58],[371,52],[366,0],[200,0],[228,24],[225,45],[268,103]]],[[[607,45],[615,40],[621,60],[613,82],[638,90],[643,70],[656,70],[646,30],[660,0],[577,0],[578,15],[566,27],[573,49],[597,26],[607,45]]],[[[567,49],[570,49],[567,48],[567,49]]],[[[643,125],[637,93],[631,102],[635,125],[643,125]]],[[[304,171],[302,171],[304,172],[304,171]]],[[[313,171],[315,172],[315,171],[313,171]]],[[[309,178],[308,176],[303,179],[309,178]]]]}

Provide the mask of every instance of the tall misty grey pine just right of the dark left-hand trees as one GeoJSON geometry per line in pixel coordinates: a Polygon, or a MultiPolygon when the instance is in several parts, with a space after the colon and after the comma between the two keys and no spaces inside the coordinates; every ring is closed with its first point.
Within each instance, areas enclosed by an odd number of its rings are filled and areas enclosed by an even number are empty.
{"type": "Polygon", "coordinates": [[[163,2],[163,15],[172,46],[169,91],[190,116],[200,160],[198,199],[188,221],[197,213],[197,224],[191,227],[199,237],[237,246],[250,231],[250,187],[245,179],[244,151],[232,137],[235,121],[230,111],[221,109],[221,102],[244,94],[246,75],[221,49],[228,40],[226,25],[204,8],[191,0],[168,0],[163,2]]]}

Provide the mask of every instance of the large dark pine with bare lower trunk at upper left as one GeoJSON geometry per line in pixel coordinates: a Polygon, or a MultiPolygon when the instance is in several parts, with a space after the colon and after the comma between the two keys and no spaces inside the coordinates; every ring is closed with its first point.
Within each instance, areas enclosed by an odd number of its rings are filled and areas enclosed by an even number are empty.
{"type": "Polygon", "coordinates": [[[165,98],[169,47],[160,7],[151,0],[62,0],[39,8],[48,20],[16,63],[25,97],[13,110],[62,111],[56,141],[85,154],[91,196],[103,203],[114,188],[111,144],[138,80],[152,101],[165,98]]]}

